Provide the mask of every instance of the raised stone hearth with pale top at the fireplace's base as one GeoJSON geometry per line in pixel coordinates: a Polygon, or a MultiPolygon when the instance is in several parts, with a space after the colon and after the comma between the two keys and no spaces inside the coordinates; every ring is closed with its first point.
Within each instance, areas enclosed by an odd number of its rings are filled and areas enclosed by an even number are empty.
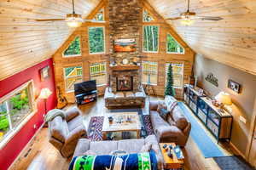
{"type": "Polygon", "coordinates": [[[107,108],[112,107],[124,107],[124,106],[139,106],[144,107],[146,94],[143,87],[140,88],[140,91],[132,92],[116,92],[112,91],[112,88],[108,87],[105,90],[104,94],[105,106],[107,108]]]}

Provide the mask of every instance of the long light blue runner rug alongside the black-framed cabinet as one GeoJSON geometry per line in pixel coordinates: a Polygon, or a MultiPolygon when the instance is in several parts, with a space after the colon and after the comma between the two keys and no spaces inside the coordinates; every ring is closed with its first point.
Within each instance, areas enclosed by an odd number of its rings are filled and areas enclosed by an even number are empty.
{"type": "Polygon", "coordinates": [[[212,139],[208,136],[205,130],[199,124],[200,120],[195,116],[192,116],[192,111],[189,110],[183,102],[178,102],[178,105],[183,110],[185,116],[191,122],[191,131],[190,136],[195,141],[195,144],[201,150],[203,156],[206,158],[215,157],[215,156],[226,156],[224,152],[219,150],[217,142],[213,142],[212,139]]]}

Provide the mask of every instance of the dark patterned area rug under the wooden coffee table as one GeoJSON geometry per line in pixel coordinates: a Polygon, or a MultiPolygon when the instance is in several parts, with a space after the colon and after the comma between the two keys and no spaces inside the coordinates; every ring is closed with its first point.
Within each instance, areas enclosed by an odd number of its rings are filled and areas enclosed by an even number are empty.
{"type": "MultiPolygon", "coordinates": [[[[150,116],[143,115],[143,111],[137,110],[113,110],[110,112],[135,112],[137,111],[140,116],[140,121],[142,123],[141,138],[146,138],[148,135],[153,134],[153,127],[151,124],[150,116]]],[[[102,126],[103,126],[104,116],[92,116],[90,118],[90,123],[88,127],[88,138],[92,141],[102,140],[102,126]]],[[[130,139],[132,134],[129,132],[123,132],[120,134],[121,139],[130,139]]],[[[110,138],[109,138],[110,139],[110,138]]]]}

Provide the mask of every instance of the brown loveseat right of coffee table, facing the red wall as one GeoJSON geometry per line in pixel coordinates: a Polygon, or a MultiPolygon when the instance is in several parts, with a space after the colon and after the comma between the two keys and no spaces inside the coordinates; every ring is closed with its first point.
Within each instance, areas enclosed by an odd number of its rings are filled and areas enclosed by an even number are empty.
{"type": "Polygon", "coordinates": [[[158,111],[159,105],[166,105],[166,110],[177,102],[172,96],[166,96],[163,101],[150,101],[149,110],[154,134],[158,142],[174,142],[184,147],[189,139],[191,123],[183,115],[179,105],[172,107],[172,111],[164,119],[158,111]]]}

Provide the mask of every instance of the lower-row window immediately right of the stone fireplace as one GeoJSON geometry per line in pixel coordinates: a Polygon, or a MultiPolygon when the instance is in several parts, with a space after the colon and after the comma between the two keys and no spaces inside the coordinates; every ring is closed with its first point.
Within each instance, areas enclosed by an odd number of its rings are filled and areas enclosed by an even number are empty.
{"type": "Polygon", "coordinates": [[[142,78],[143,83],[148,83],[151,85],[157,85],[157,63],[156,62],[149,62],[143,61],[142,67],[142,78]]]}

